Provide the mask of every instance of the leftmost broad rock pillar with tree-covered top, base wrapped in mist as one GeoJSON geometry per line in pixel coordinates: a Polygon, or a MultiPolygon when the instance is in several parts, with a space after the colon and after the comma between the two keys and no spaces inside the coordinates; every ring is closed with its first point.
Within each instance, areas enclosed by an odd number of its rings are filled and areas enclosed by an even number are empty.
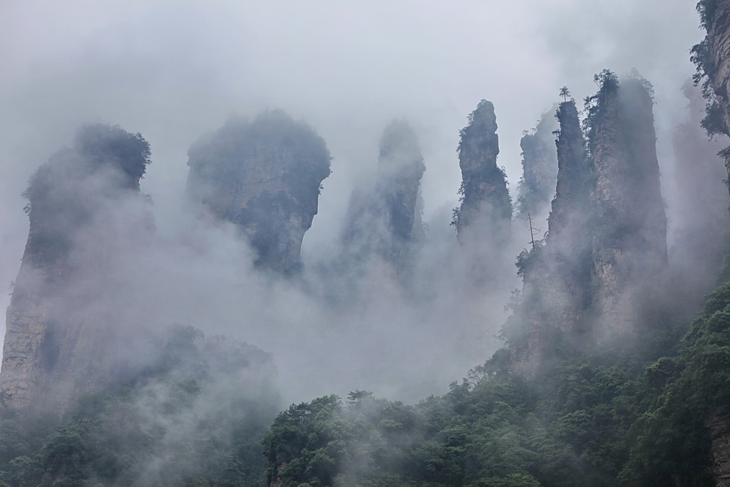
{"type": "Polygon", "coordinates": [[[94,124],[31,178],[0,372],[8,407],[63,410],[110,378],[113,321],[90,302],[104,293],[110,253],[134,250],[153,230],[139,193],[149,157],[141,135],[94,124]]]}

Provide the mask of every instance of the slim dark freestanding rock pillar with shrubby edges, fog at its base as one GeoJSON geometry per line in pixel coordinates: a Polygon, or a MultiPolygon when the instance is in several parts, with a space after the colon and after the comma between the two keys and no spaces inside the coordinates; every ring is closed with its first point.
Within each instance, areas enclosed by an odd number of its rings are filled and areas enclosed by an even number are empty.
{"type": "Polygon", "coordinates": [[[454,223],[459,243],[499,245],[510,237],[512,202],[507,180],[497,166],[499,138],[494,105],[482,100],[461,129],[458,146],[463,199],[454,223]]]}

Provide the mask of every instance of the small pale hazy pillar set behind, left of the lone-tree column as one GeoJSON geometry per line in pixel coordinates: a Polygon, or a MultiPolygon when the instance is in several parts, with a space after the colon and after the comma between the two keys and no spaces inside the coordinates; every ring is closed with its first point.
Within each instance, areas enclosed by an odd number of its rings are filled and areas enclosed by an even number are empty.
{"type": "Polygon", "coordinates": [[[558,159],[555,136],[558,129],[553,116],[556,107],[542,114],[531,133],[520,139],[522,149],[522,179],[518,184],[517,211],[522,218],[528,213],[541,221],[555,195],[558,159]]]}

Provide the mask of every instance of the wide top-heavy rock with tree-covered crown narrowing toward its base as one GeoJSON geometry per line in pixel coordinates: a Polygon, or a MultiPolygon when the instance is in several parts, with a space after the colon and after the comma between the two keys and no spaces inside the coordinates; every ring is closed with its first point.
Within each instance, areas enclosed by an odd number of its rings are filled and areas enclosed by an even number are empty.
{"type": "Polygon", "coordinates": [[[187,191],[247,235],[256,264],[284,274],[301,269],[301,240],[317,214],[330,173],[324,140],[282,110],[230,120],[188,150],[187,191]]]}

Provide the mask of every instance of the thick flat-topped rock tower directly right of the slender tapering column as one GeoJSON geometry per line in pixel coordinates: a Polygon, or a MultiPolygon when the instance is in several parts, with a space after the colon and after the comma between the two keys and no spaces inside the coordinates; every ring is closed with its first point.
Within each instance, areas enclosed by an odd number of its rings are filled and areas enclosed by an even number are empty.
{"type": "Polygon", "coordinates": [[[631,294],[666,265],[666,216],[659,188],[653,101],[640,79],[612,74],[591,109],[589,143],[596,170],[593,210],[593,302],[610,329],[635,321],[631,294]]]}

